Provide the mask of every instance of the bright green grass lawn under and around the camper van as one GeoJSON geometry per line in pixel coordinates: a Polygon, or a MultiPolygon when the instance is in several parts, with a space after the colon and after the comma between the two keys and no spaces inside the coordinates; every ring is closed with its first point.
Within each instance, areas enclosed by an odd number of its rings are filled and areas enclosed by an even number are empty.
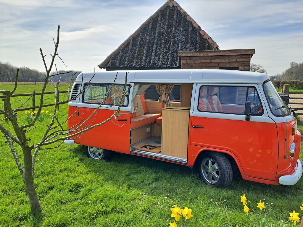
{"type": "MultiPolygon", "coordinates": [[[[18,85],[17,91],[39,92],[41,87],[18,85]]],[[[4,89],[12,86],[0,85],[0,90],[4,89]]],[[[47,89],[51,91],[53,87],[47,89]]],[[[67,86],[60,90],[67,90],[67,86]]],[[[60,99],[66,95],[60,94],[60,99]]],[[[52,103],[53,96],[47,95],[45,102],[52,103]]],[[[16,99],[20,97],[14,98],[17,106],[16,99]]],[[[66,118],[67,107],[60,106],[59,119],[66,118]]],[[[52,107],[45,110],[51,111],[52,107]]],[[[22,121],[25,113],[18,112],[17,117],[22,121]]],[[[37,128],[29,132],[32,141],[42,136],[48,120],[50,117],[37,122],[37,128]]],[[[3,124],[12,129],[8,123],[3,124]]],[[[303,131],[302,122],[298,122],[298,128],[303,131]]],[[[298,212],[303,202],[302,179],[294,186],[274,186],[238,176],[228,189],[215,189],[206,186],[197,171],[186,166],[118,153],[109,161],[92,160],[85,156],[82,146],[63,144],[37,155],[34,180],[43,212],[35,215],[30,212],[22,177],[4,141],[0,137],[0,226],[168,227],[168,222],[173,222],[170,208],[179,205],[193,210],[188,226],[240,227],[248,226],[240,203],[243,193],[257,213],[260,210],[256,202],[264,201],[267,215],[274,220],[286,221],[288,212],[298,212]]],[[[17,151],[22,160],[22,152],[17,151]]]]}

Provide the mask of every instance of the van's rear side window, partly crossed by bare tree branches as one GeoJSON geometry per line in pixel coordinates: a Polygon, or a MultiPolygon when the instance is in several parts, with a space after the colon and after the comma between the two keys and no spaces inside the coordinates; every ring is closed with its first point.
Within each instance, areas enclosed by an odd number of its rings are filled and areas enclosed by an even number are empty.
{"type": "MultiPolygon", "coordinates": [[[[83,103],[92,103],[92,104],[101,104],[102,105],[118,105],[123,94],[124,84],[122,85],[113,85],[112,84],[85,84],[87,85],[82,102],[83,103]],[[112,86],[112,89],[111,89],[112,86]]],[[[85,86],[84,85],[84,86],[85,86]]],[[[126,89],[129,88],[127,85],[126,89]]],[[[123,97],[123,106],[128,104],[128,94],[123,97]]]]}

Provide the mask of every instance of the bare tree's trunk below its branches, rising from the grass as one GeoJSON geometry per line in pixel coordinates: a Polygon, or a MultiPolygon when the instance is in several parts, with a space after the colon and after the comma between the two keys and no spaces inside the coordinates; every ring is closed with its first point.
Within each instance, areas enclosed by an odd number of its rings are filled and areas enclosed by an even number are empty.
{"type": "Polygon", "coordinates": [[[29,148],[22,149],[24,155],[24,183],[32,212],[41,212],[42,208],[36,193],[32,174],[32,152],[29,148]]]}

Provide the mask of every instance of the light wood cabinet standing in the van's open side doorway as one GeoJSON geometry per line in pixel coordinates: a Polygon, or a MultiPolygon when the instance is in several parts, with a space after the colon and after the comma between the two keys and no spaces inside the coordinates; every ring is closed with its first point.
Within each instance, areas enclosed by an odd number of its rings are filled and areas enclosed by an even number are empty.
{"type": "Polygon", "coordinates": [[[187,159],[189,107],[162,110],[162,154],[187,159]]]}

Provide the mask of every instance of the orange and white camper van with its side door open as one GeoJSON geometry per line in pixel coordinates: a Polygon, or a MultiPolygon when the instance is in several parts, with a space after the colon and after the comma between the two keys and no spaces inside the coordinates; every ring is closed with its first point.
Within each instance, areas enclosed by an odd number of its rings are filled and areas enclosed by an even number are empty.
{"type": "MultiPolygon", "coordinates": [[[[71,92],[71,98],[76,98],[68,103],[67,127],[85,121],[96,109],[88,125],[112,116],[125,74],[79,74],[71,92]]],[[[65,143],[84,145],[93,159],[107,159],[115,151],[195,165],[201,179],[215,187],[229,186],[235,172],[267,184],[293,185],[301,178],[297,120],[267,74],[134,70],[129,71],[126,84],[130,89],[122,97],[120,113],[135,113],[123,114],[65,143]]]]}

